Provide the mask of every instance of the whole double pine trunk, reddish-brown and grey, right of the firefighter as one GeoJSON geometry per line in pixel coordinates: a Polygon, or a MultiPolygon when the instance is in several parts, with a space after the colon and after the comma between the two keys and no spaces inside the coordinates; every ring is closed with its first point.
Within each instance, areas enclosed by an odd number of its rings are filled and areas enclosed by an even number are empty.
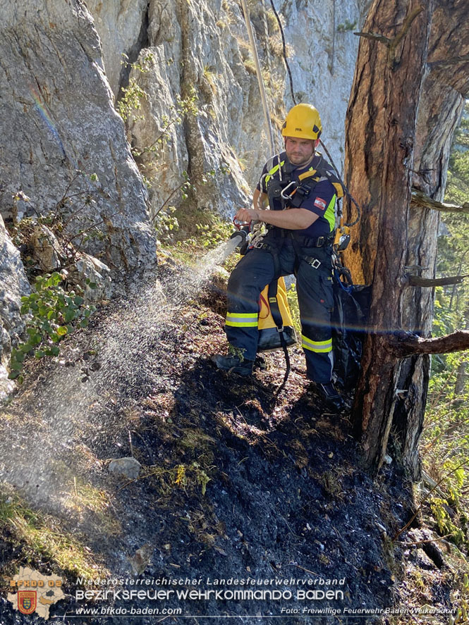
{"type": "MultiPolygon", "coordinates": [[[[436,64],[422,85],[427,53],[438,61],[469,51],[467,20],[461,22],[465,1],[425,5],[399,40],[394,63],[385,43],[360,42],[346,122],[346,179],[364,211],[347,263],[355,281],[372,284],[374,330],[365,341],[355,426],[367,462],[379,468],[394,418],[403,462],[414,478],[430,360],[396,360],[388,337],[401,329],[430,335],[433,290],[406,286],[405,273],[417,265],[422,277],[434,278],[439,214],[410,209],[410,189],[414,185],[432,199],[443,199],[451,136],[463,107],[456,89],[467,89],[469,75],[468,63],[444,71],[436,64]]],[[[418,6],[417,1],[375,0],[363,30],[392,42],[418,6]]],[[[352,214],[348,206],[347,216],[352,214]]]]}

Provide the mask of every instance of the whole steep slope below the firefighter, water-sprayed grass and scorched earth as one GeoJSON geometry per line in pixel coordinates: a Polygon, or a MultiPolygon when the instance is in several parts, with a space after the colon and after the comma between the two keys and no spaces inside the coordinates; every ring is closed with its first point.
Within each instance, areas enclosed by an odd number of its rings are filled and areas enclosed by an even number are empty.
{"type": "MultiPolygon", "coordinates": [[[[23,493],[23,506],[49,515],[59,535],[73,532],[85,550],[88,576],[132,578],[142,588],[146,579],[176,580],[175,586],[157,584],[223,592],[193,599],[173,593],[158,602],[119,595],[114,602],[75,601],[75,590],[97,587],[80,586],[71,562],[58,566],[58,552],[33,552],[35,568],[66,578],[71,596],[54,614],[156,606],[195,618],[238,615],[255,622],[262,615],[262,622],[274,623],[283,616],[296,624],[305,622],[306,608],[322,609],[324,624],[350,625],[398,622],[370,612],[377,609],[410,609],[427,601],[448,609],[451,571],[412,546],[421,535],[399,537],[411,545],[406,555],[405,547],[391,543],[413,507],[403,476],[389,466],[373,483],[360,468],[350,423],[325,411],[306,388],[299,350],[280,395],[281,354],[263,357],[252,381],[214,371],[209,355],[224,344],[224,297],[205,290],[190,302],[206,284],[193,274],[166,266],[166,304],[161,291],[147,285],[130,307],[106,311],[78,343],[69,342],[62,365],[36,372],[37,384],[2,418],[10,441],[2,449],[2,471],[23,493]],[[32,405],[37,437],[11,445],[13,430],[19,440],[31,431],[31,421],[23,427],[21,419],[32,405]],[[111,476],[110,459],[128,456],[142,465],[139,478],[111,476]],[[425,576],[423,598],[410,579],[419,576],[425,576]],[[233,579],[243,579],[244,586],[233,579]],[[248,579],[267,582],[251,588],[248,579]],[[225,583],[217,586],[218,580],[225,583]],[[328,580],[337,580],[336,586],[328,580]],[[230,594],[245,589],[283,594],[230,594]],[[306,599],[300,590],[317,594],[306,599]],[[319,590],[339,595],[324,599],[319,590]],[[346,609],[367,609],[361,614],[368,617],[350,618],[359,613],[346,609]]],[[[15,527],[4,524],[4,536],[6,528],[15,535],[15,527]]],[[[12,557],[22,561],[18,550],[6,549],[6,573],[17,566],[12,557]]],[[[4,598],[0,605],[8,622],[11,608],[4,598]]],[[[173,614],[169,622],[183,622],[173,614]]]]}

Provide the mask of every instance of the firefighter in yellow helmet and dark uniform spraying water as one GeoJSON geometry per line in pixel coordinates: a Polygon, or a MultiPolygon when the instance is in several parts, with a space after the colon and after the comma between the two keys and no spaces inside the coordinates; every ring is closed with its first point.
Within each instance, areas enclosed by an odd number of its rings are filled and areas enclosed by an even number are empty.
{"type": "Polygon", "coordinates": [[[264,165],[253,208],[239,209],[240,222],[261,221],[267,234],[243,256],[228,283],[228,356],[213,357],[218,369],[250,376],[257,352],[257,314],[262,289],[294,273],[307,378],[336,408],[343,400],[331,382],[332,243],[335,206],[343,191],[333,169],[316,151],[322,124],[310,104],[288,112],[282,129],[285,150],[264,165]],[[269,204],[270,210],[263,210],[269,204]]]}

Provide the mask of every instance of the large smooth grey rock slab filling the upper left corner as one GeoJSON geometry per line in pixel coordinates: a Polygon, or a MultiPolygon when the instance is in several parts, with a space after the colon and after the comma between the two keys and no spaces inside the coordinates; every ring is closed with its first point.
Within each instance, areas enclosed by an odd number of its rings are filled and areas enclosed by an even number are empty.
{"type": "Polygon", "coordinates": [[[11,216],[21,190],[20,215],[59,209],[69,236],[88,235],[74,245],[101,256],[114,278],[151,266],[145,187],[90,13],[80,0],[19,0],[0,16],[1,214],[11,216]]]}

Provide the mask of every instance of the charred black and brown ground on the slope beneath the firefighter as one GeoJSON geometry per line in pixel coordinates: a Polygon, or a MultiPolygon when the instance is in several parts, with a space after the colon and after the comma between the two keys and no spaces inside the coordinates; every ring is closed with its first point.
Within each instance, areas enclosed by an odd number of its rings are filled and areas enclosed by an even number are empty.
{"type": "MultiPolygon", "coordinates": [[[[181,581],[182,586],[157,586],[178,590],[284,594],[254,600],[229,594],[215,598],[212,593],[207,599],[192,600],[175,599],[173,594],[166,601],[125,601],[119,596],[112,600],[109,595],[106,601],[75,601],[75,590],[84,587],[77,586],[73,566],[59,564],[50,553],[29,551],[25,557],[24,539],[8,524],[0,547],[6,578],[27,563],[42,574],[61,574],[67,598],[51,607],[51,617],[69,624],[449,622],[441,615],[436,619],[408,613],[373,615],[373,610],[396,613],[425,605],[451,609],[453,572],[447,562],[437,566],[422,545],[401,544],[418,543],[420,538],[411,532],[422,526],[421,515],[410,533],[403,532],[392,542],[417,507],[412,485],[396,462],[375,479],[367,474],[348,416],[328,411],[308,388],[300,349],[293,349],[292,371],[279,393],[284,377],[281,352],[260,357],[250,380],[216,371],[209,356],[226,349],[220,314],[224,301],[212,290],[181,307],[158,340],[146,343],[145,366],[135,372],[131,384],[117,367],[110,387],[99,349],[87,350],[102,333],[113,307],[64,343],[62,364],[37,366],[27,389],[8,407],[12,421],[20,407],[24,413],[25,405],[38,402],[47,380],[57,376],[64,361],[73,365],[68,371],[87,372],[83,385],[93,383],[100,389],[101,401],[80,421],[75,443],[57,454],[61,466],[73,466],[81,481],[102,489],[105,511],[91,502],[65,510],[56,502],[39,504],[18,489],[17,494],[33,509],[44,510],[49,523],[62,533],[80,541],[95,563],[95,577],[124,583],[181,581]],[[138,479],[109,474],[109,459],[130,455],[142,464],[138,479]],[[195,585],[187,586],[186,578],[195,585]],[[235,579],[245,585],[234,585],[235,579]],[[250,586],[252,579],[267,585],[250,586]],[[225,586],[216,586],[219,580],[225,580],[225,586]],[[305,589],[342,594],[329,600],[320,593],[298,598],[298,591],[305,589]],[[78,616],[77,609],[83,607],[114,609],[114,615],[78,616]],[[132,607],[182,612],[152,617],[118,613],[132,607]],[[323,613],[308,614],[308,609],[323,613]]],[[[8,435],[7,426],[5,432],[8,435]]],[[[63,469],[51,477],[56,479],[56,491],[66,492],[65,476],[63,469]]],[[[2,590],[1,625],[42,621],[13,612],[5,582],[2,590]]]]}

